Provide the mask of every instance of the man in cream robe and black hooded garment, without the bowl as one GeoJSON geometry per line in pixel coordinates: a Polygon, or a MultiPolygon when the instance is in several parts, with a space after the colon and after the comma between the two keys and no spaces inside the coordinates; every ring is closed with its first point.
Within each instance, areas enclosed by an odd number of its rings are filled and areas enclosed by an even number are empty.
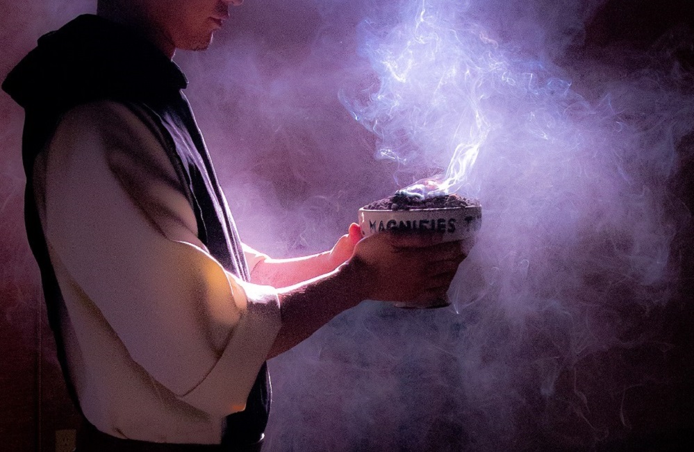
{"type": "Polygon", "coordinates": [[[3,88],[26,110],[26,228],[78,451],[259,450],[265,360],[363,299],[426,306],[458,242],[390,233],[274,260],[243,245],[171,61],[240,0],[103,0],[3,88]]]}

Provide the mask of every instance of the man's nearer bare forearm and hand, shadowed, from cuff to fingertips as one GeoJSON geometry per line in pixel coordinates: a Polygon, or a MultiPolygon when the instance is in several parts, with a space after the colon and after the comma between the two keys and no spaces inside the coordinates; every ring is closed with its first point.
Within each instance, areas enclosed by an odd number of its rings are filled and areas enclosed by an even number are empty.
{"type": "Polygon", "coordinates": [[[440,243],[434,234],[381,233],[361,240],[329,274],[279,290],[282,325],[268,358],[365,299],[411,307],[443,299],[463,259],[461,242],[440,243]]]}

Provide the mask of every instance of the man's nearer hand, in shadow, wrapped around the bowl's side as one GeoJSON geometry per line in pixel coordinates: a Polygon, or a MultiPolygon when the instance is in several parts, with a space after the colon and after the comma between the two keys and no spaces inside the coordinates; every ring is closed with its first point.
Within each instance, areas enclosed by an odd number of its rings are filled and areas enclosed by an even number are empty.
{"type": "Polygon", "coordinates": [[[362,275],[363,296],[418,308],[440,303],[465,259],[462,242],[441,238],[382,232],[358,242],[349,265],[362,275]]]}

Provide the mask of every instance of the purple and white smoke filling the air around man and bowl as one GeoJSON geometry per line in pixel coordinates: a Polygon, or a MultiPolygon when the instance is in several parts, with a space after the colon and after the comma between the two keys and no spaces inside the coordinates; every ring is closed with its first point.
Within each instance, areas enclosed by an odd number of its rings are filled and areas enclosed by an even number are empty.
{"type": "MultiPolygon", "coordinates": [[[[77,8],[47,4],[13,10],[3,69],[77,8]]],[[[322,251],[359,207],[435,174],[484,216],[452,308],[366,301],[270,362],[266,451],[609,447],[688,426],[686,10],[269,0],[232,14],[209,51],[176,60],[245,242],[322,251]]],[[[1,226],[24,246],[21,112],[4,94],[1,108],[1,226]]]]}

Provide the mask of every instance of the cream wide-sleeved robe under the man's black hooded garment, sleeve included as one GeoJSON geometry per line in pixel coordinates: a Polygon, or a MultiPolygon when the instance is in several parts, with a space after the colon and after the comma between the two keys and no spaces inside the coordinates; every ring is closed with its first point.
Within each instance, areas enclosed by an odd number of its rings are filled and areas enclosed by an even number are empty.
{"type": "MultiPolygon", "coordinates": [[[[218,443],[279,331],[276,290],[210,255],[165,150],[119,103],[67,112],[34,171],[85,417],[116,437],[218,443]]],[[[266,257],[244,251],[251,271],[266,257]]]]}

